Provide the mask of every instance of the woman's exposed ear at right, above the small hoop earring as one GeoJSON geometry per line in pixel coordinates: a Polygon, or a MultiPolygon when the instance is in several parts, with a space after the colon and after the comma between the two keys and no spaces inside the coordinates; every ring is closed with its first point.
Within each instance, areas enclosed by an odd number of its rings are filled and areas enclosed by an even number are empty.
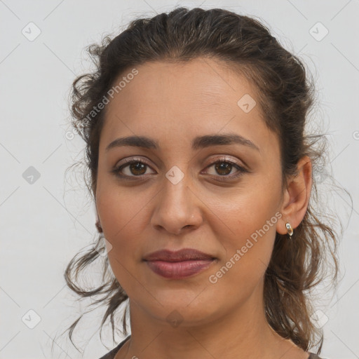
{"type": "Polygon", "coordinates": [[[287,179],[287,189],[283,195],[280,212],[282,217],[277,222],[277,232],[287,234],[285,224],[293,229],[299,226],[306,214],[312,186],[312,164],[309,156],[302,157],[297,164],[298,174],[287,179]]]}

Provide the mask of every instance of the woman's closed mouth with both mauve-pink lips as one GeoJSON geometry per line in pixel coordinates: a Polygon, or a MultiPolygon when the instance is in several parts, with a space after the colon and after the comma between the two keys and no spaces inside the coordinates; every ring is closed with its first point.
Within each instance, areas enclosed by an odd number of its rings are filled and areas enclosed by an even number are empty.
{"type": "Polygon", "coordinates": [[[217,258],[186,248],[177,252],[160,250],[144,257],[149,269],[163,278],[181,279],[208,269],[217,258]]]}

